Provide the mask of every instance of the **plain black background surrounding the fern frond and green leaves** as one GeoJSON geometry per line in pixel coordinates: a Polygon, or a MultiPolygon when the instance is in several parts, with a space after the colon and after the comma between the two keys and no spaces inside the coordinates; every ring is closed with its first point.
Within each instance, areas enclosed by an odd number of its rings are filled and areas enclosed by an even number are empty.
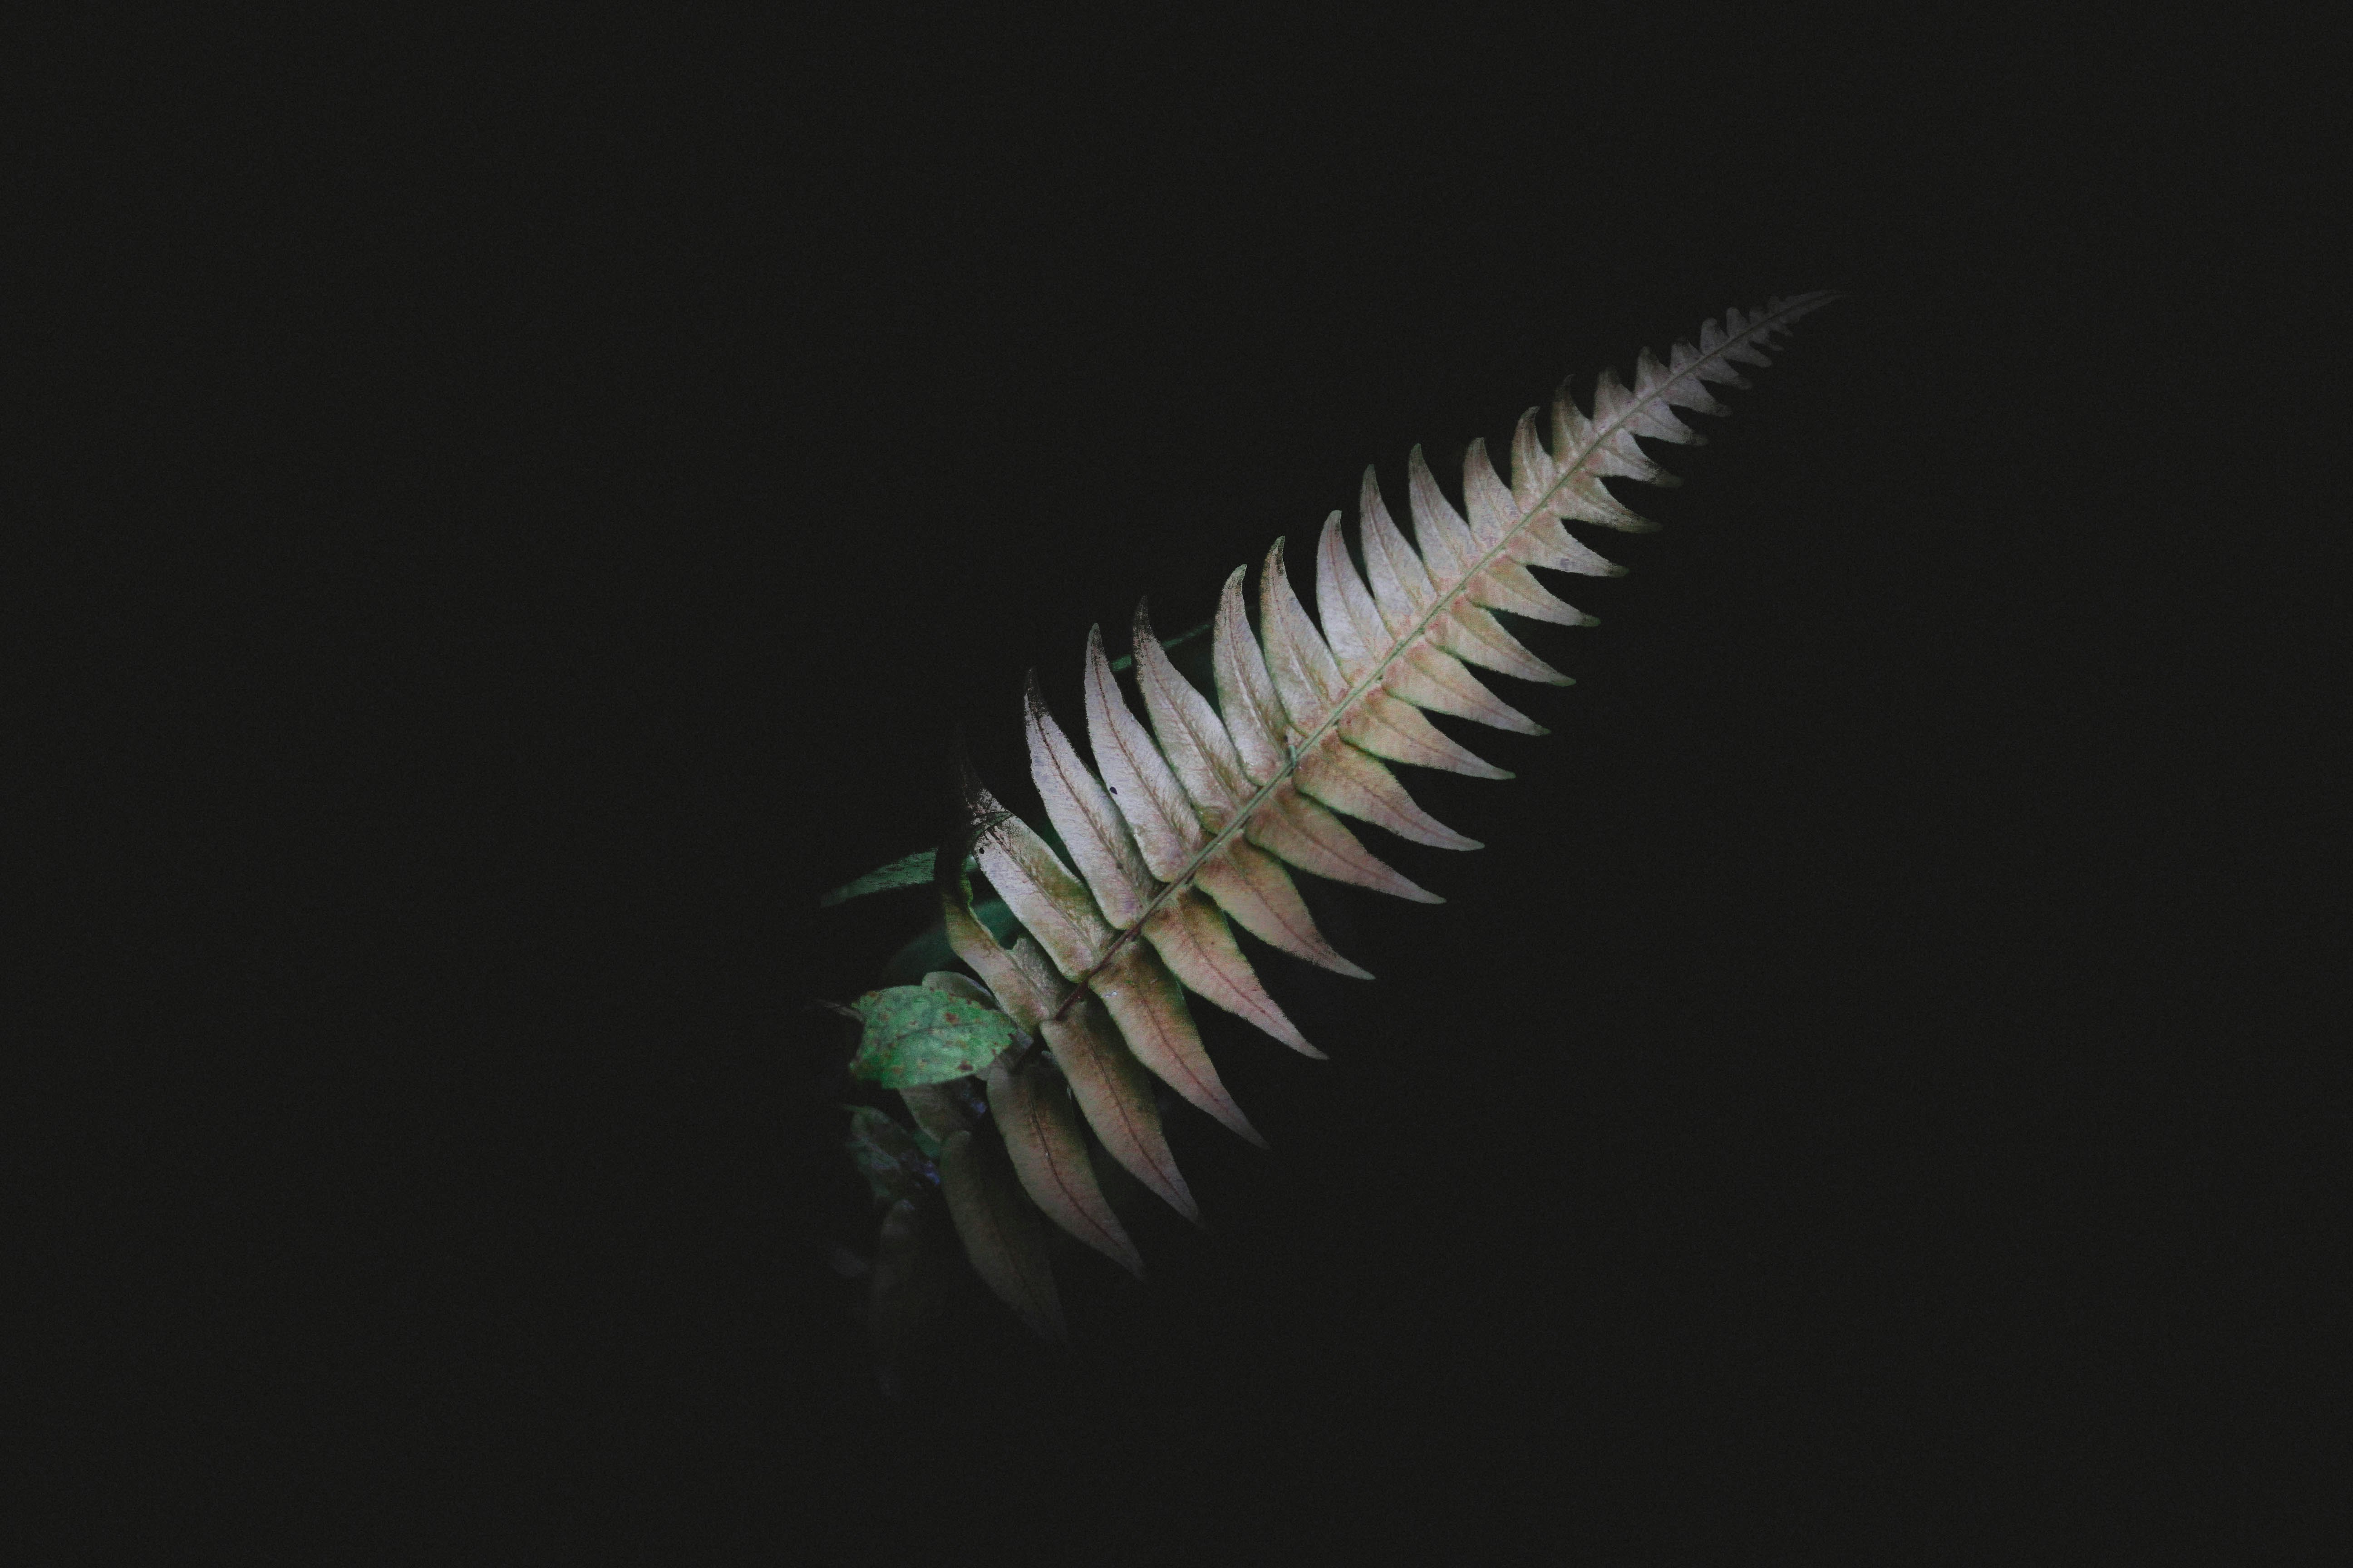
{"type": "Polygon", "coordinates": [[[2341,1077],[2209,1020],[2320,943],[2318,762],[2254,769],[2238,682],[2325,574],[2254,585],[2292,508],[2217,449],[2318,221],[2306,132],[2212,85],[2273,56],[2092,9],[87,28],[16,331],[78,691],[35,969],[106,976],[42,1013],[96,1175],[28,1232],[80,1436],[26,1467],[92,1554],[1960,1561],[2245,1544],[2334,1465],[2252,1458],[2332,1387],[2254,1281],[2318,1269],[2341,1077]],[[1026,797],[1021,675],[1075,719],[1087,625],[1817,287],[1624,491],[1666,531],[1593,541],[1607,625],[1529,632],[1555,733],[1414,780],[1489,844],[1381,849],[1449,903],[1320,900],[1377,985],[1264,957],[1332,1063],[1200,1009],[1273,1154],[1174,1112],[1207,1232],[1073,1258],[1068,1352],[967,1293],[878,1401],[814,1001],[922,898],[814,900],[936,832],[955,729],[1026,797]]]}

